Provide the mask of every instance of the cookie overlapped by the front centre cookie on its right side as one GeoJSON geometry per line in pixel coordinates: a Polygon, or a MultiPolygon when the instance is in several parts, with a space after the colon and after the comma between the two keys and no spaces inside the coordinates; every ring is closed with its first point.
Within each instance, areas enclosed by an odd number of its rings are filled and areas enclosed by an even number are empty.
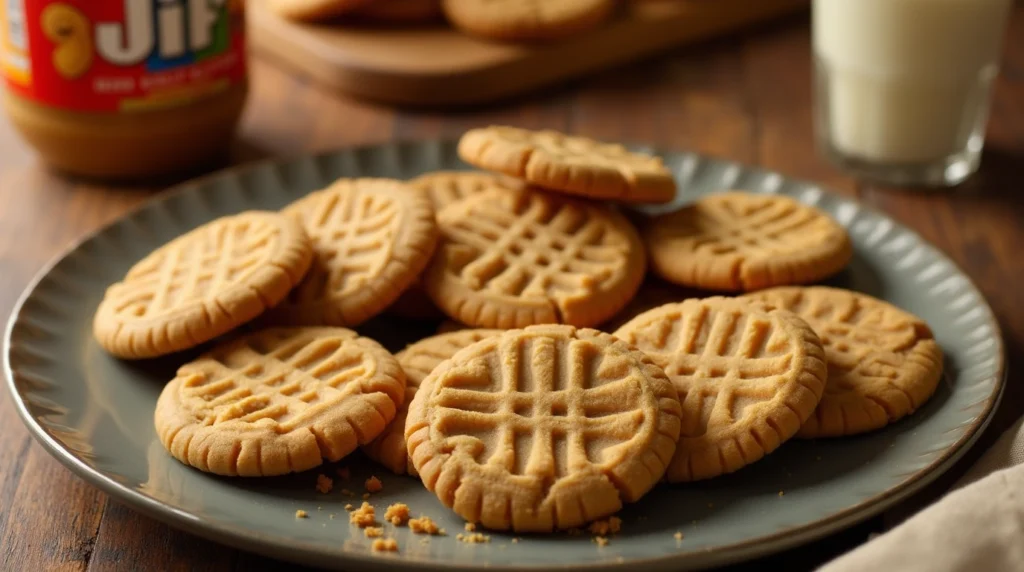
{"type": "Polygon", "coordinates": [[[752,300],[668,304],[615,336],[665,368],[679,392],[683,428],[670,482],[731,473],[772,452],[811,416],[825,385],[814,332],[752,300]]]}

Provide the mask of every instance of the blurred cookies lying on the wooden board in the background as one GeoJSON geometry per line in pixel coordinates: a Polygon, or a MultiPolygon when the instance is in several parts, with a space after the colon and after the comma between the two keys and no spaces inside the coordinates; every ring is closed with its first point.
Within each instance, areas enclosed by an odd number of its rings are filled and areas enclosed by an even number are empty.
{"type": "Polygon", "coordinates": [[[541,42],[601,26],[616,0],[270,0],[282,17],[306,23],[428,24],[446,19],[479,38],[541,42]]]}

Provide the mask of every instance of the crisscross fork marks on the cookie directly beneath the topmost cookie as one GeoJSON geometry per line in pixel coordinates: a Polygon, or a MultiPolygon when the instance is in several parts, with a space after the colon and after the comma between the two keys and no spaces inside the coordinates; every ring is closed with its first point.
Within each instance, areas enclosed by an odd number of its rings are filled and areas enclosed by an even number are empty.
{"type": "Polygon", "coordinates": [[[461,272],[475,290],[511,296],[585,293],[612,277],[620,250],[607,244],[605,223],[586,211],[560,205],[548,216],[535,200],[519,216],[486,202],[477,206],[479,212],[445,229],[458,244],[481,253],[461,272]]]}

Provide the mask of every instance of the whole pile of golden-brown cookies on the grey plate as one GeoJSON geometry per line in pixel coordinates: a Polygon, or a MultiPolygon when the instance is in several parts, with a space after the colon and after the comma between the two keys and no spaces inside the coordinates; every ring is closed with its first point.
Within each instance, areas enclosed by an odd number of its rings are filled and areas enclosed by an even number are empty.
{"type": "Polygon", "coordinates": [[[95,337],[123,358],[251,322],[165,387],[171,454],[268,476],[361,447],[470,522],[551,531],[794,437],[880,429],[936,388],[922,320],[801,285],[852,256],[813,208],[721,192],[638,230],[615,204],[675,197],[657,158],[508,127],[459,153],[482,170],[339,180],[197,228],[109,289],[95,337]],[[382,313],[444,332],[391,355],[348,329],[382,313]]]}

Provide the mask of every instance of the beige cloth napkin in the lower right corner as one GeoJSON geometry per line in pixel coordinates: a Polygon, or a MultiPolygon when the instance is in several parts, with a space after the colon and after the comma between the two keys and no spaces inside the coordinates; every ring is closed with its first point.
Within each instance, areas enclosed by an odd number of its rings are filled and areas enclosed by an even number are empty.
{"type": "Polygon", "coordinates": [[[1024,570],[1024,420],[941,500],[820,572],[1024,570]]]}

